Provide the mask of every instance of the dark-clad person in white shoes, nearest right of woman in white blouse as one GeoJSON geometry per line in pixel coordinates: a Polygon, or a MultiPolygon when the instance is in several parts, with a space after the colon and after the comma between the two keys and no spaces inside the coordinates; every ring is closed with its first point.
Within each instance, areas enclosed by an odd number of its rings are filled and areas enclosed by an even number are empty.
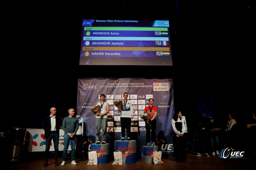
{"type": "Polygon", "coordinates": [[[199,152],[196,156],[201,156],[202,152],[205,152],[206,157],[210,157],[208,154],[209,151],[209,145],[210,145],[210,121],[209,118],[205,117],[205,113],[202,112],[201,116],[199,118],[197,127],[199,130],[199,136],[198,136],[198,144],[199,144],[199,152]]]}

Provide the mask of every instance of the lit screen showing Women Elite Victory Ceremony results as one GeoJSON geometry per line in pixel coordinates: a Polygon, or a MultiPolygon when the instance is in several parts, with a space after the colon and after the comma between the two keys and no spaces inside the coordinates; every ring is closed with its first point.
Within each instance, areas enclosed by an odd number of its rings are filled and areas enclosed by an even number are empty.
{"type": "Polygon", "coordinates": [[[84,19],[79,65],[172,66],[169,21],[84,19]]]}

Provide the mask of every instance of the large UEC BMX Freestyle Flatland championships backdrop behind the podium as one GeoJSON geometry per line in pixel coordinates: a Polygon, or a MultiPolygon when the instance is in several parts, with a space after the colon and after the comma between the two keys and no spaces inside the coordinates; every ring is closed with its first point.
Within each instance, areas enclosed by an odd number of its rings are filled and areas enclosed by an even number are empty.
{"type": "Polygon", "coordinates": [[[96,116],[91,109],[100,101],[100,94],[106,95],[105,101],[109,104],[107,143],[111,147],[114,140],[121,139],[120,114],[113,102],[124,100],[124,92],[128,93],[128,100],[132,102],[134,119],[131,122],[131,139],[137,141],[137,152],[141,154],[142,146],[146,145],[145,122],[140,116],[144,114],[148,100],[153,98],[153,105],[157,107],[156,145],[158,151],[163,151],[163,157],[172,156],[173,83],[167,78],[78,78],[77,115],[84,119],[84,135],[88,141],[95,143],[96,116]]]}

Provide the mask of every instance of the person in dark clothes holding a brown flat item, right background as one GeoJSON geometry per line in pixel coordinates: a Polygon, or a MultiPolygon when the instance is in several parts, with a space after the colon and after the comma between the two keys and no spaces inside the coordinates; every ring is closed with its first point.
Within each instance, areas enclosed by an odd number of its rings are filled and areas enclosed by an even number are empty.
{"type": "Polygon", "coordinates": [[[210,119],[210,139],[211,139],[211,147],[212,147],[212,155],[219,155],[219,125],[213,120],[213,117],[209,117],[210,119]],[[214,122],[213,122],[214,121],[214,122]]]}

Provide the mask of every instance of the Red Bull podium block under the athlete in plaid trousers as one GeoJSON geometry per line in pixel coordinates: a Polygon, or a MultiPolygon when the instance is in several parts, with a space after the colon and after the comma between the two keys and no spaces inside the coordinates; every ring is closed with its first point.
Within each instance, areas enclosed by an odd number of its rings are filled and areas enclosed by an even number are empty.
{"type": "Polygon", "coordinates": [[[109,162],[109,144],[91,144],[91,151],[96,151],[98,155],[98,164],[107,164],[109,162]]]}

